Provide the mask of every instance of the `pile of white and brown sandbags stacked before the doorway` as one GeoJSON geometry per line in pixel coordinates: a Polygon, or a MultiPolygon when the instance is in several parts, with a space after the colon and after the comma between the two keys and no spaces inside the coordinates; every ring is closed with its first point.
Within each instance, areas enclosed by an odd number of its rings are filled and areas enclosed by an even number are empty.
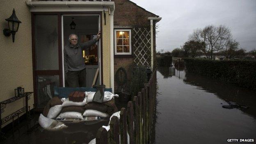
{"type": "MultiPolygon", "coordinates": [[[[75,94],[75,93],[72,93],[75,94]]],[[[105,91],[103,103],[94,103],[95,92],[86,91],[83,101],[71,101],[69,98],[53,97],[43,110],[41,119],[87,119],[87,117],[109,117],[118,109],[114,102],[114,95],[105,91]]],[[[39,118],[40,121],[40,118],[39,118]]],[[[50,120],[48,120],[50,122],[50,120]]],[[[39,122],[39,124],[42,123],[39,122]]],[[[41,124],[40,124],[41,125],[41,124]]],[[[49,124],[48,124],[49,125],[49,124]]],[[[46,124],[46,126],[48,126],[46,124]]],[[[41,125],[42,126],[42,125],[41,125]]],[[[43,126],[42,126],[43,127],[43,126]]]]}

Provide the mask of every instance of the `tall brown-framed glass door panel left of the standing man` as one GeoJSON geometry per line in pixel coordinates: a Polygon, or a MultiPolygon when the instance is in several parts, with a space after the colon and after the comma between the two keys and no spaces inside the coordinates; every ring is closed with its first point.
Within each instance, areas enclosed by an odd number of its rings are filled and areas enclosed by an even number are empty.
{"type": "Polygon", "coordinates": [[[37,13],[32,15],[34,31],[33,71],[34,103],[43,108],[54,96],[54,87],[62,86],[62,63],[59,60],[60,14],[37,13]]]}

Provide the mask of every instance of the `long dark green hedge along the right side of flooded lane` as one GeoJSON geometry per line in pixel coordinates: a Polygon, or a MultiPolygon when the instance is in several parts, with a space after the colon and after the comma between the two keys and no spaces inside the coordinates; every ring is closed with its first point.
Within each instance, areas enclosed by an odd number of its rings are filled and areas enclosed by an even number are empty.
{"type": "Polygon", "coordinates": [[[256,61],[184,58],[187,71],[256,90],[256,61]]]}

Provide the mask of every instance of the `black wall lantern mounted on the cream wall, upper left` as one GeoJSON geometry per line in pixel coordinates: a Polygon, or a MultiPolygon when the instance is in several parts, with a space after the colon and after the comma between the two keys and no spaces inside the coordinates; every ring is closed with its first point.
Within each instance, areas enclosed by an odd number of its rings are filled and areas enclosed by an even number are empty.
{"type": "Polygon", "coordinates": [[[7,29],[7,28],[4,29],[4,35],[6,37],[9,37],[10,35],[12,35],[12,42],[14,42],[15,33],[18,32],[18,27],[19,27],[21,21],[18,20],[16,14],[15,14],[15,10],[13,10],[12,15],[5,20],[8,21],[9,29],[7,29]]]}

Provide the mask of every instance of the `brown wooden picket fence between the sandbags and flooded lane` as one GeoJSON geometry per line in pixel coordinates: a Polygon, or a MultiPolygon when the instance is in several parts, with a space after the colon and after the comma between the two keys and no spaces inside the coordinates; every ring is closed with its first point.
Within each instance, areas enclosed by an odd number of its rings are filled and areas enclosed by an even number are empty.
{"type": "Polygon", "coordinates": [[[156,70],[149,83],[144,84],[127,108],[121,108],[120,120],[114,116],[110,121],[110,130],[100,128],[96,134],[96,144],[150,144],[156,103],[156,70]],[[119,139],[120,135],[120,139],[119,139]]]}

